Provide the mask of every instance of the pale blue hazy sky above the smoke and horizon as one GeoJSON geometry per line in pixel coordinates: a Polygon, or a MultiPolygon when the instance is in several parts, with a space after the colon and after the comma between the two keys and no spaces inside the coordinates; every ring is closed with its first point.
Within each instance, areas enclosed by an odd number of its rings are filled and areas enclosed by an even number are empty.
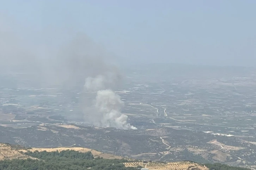
{"type": "MultiPolygon", "coordinates": [[[[85,33],[123,62],[254,66],[255,0],[0,0],[33,50],[85,33]]],[[[41,55],[47,53],[41,52],[41,55]]]]}

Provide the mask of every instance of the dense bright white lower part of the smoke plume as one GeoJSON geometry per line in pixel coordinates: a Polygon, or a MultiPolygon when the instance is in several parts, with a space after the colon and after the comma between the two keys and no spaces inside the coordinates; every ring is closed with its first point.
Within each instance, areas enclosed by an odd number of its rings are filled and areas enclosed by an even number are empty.
{"type": "Polygon", "coordinates": [[[85,80],[87,91],[96,92],[95,110],[96,114],[93,123],[101,127],[115,127],[117,129],[137,129],[127,123],[127,116],[121,113],[124,106],[121,97],[114,91],[107,89],[111,83],[114,83],[115,77],[98,75],[94,78],[88,77],[85,80]]]}

